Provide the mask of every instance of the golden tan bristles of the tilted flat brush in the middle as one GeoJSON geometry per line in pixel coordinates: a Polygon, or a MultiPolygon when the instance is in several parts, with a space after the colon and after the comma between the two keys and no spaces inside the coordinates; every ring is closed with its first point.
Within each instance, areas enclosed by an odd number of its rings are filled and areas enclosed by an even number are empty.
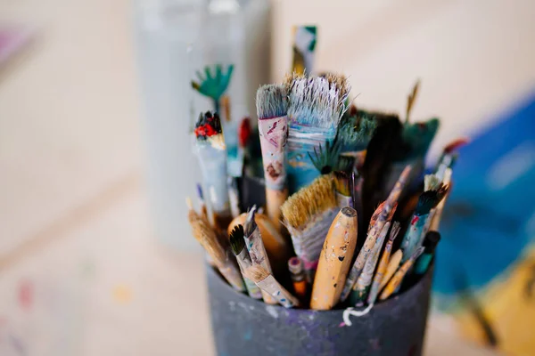
{"type": "Polygon", "coordinates": [[[305,227],[310,219],[335,207],[333,176],[325,174],[288,198],[281,206],[281,212],[289,227],[300,229],[305,227]]]}

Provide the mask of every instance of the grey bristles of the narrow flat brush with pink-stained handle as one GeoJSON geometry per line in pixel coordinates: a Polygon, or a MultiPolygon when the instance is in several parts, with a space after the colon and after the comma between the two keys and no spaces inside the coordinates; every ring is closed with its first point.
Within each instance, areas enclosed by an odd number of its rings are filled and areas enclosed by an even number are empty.
{"type": "Polygon", "coordinates": [[[257,90],[257,115],[259,119],[284,117],[288,109],[288,93],[284,85],[262,85],[257,90]]]}

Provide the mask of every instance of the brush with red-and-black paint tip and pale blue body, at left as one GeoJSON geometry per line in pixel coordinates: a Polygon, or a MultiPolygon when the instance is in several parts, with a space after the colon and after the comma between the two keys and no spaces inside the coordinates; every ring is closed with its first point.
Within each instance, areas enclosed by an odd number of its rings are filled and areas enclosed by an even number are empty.
{"type": "Polygon", "coordinates": [[[195,124],[197,157],[208,190],[215,226],[224,231],[232,220],[226,186],[226,149],[218,114],[207,111],[195,124]]]}

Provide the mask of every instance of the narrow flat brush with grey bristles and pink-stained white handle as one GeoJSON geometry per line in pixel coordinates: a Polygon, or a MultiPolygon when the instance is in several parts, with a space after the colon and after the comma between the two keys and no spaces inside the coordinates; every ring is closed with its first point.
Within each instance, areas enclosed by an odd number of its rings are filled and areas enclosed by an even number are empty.
{"type": "Polygon", "coordinates": [[[288,137],[288,94],[284,85],[262,85],[257,91],[259,138],[266,180],[268,216],[280,230],[280,207],[288,198],[285,151],[288,137]]]}

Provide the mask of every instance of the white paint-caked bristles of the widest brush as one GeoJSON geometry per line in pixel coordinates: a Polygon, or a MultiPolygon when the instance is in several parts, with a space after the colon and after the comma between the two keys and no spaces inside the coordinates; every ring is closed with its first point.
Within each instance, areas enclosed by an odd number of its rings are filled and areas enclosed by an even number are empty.
{"type": "Polygon", "coordinates": [[[288,117],[300,125],[331,128],[347,109],[350,85],[345,79],[293,77],[288,92],[288,117]]]}

